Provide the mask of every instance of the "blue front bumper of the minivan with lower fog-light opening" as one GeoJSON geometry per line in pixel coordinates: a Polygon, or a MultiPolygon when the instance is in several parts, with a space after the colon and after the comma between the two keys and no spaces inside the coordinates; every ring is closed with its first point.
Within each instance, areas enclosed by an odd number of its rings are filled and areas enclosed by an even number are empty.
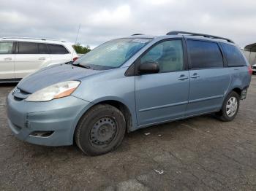
{"type": "Polygon", "coordinates": [[[8,125],[18,139],[32,144],[71,145],[75,126],[90,106],[90,102],[74,96],[28,102],[18,101],[10,93],[7,97],[8,125]],[[40,136],[37,132],[46,133],[40,136]]]}

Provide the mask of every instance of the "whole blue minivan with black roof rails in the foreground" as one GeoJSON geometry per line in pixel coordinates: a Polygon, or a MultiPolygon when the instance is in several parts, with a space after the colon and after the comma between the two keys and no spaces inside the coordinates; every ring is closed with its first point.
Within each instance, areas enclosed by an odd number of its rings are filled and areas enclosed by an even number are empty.
{"type": "Polygon", "coordinates": [[[233,120],[251,74],[230,39],[181,31],[113,39],[22,79],[7,98],[8,123],[18,139],[101,155],[126,131],[208,113],[233,120]]]}

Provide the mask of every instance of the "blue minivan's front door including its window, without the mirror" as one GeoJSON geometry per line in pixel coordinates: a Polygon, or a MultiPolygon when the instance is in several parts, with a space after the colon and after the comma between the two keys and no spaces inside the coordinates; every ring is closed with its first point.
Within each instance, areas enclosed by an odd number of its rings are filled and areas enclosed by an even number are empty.
{"type": "Polygon", "coordinates": [[[138,125],[184,117],[189,95],[189,71],[184,67],[182,40],[168,39],[155,44],[136,64],[147,61],[157,62],[159,73],[135,77],[138,125]]]}

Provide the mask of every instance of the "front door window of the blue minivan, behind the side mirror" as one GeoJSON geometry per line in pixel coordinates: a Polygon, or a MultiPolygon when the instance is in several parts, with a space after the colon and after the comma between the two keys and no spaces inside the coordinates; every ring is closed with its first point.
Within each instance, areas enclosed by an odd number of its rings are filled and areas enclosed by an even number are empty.
{"type": "Polygon", "coordinates": [[[184,70],[184,56],[181,40],[160,42],[146,52],[140,63],[154,61],[159,64],[159,72],[184,70]]]}

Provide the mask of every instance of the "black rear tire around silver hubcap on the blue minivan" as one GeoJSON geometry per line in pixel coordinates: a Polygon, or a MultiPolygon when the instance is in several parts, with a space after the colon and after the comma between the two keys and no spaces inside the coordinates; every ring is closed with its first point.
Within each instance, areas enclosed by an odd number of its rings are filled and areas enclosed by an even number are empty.
{"type": "Polygon", "coordinates": [[[236,117],[236,114],[238,113],[239,104],[240,104],[240,95],[238,95],[238,93],[234,91],[229,93],[222,104],[222,109],[216,113],[219,120],[222,120],[225,122],[232,121],[236,117]],[[228,112],[230,112],[230,109],[228,109],[227,104],[230,104],[231,98],[235,98],[237,101],[236,111],[233,111],[230,114],[227,114],[228,112]]]}

